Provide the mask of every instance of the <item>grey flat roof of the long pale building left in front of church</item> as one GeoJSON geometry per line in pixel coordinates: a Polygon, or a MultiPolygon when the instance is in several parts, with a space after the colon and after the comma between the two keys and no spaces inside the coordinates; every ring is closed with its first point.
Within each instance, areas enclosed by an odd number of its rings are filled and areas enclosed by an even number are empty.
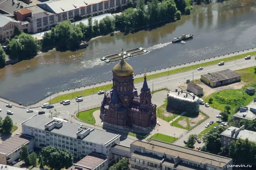
{"type": "MultiPolygon", "coordinates": [[[[54,119],[48,118],[44,115],[35,115],[34,117],[29,118],[27,121],[25,121],[23,123],[23,125],[33,127],[33,128],[37,128],[37,129],[40,129],[40,130],[45,130],[44,125],[47,124],[49,121],[52,121],[52,120],[54,120],[54,119]]],[[[49,132],[64,135],[64,136],[68,136],[68,137],[71,137],[71,138],[77,138],[76,133],[78,132],[79,127],[81,127],[81,125],[63,121],[61,128],[59,128],[59,129],[53,128],[49,132]]],[[[86,127],[86,126],[83,126],[83,127],[86,127]]],[[[93,129],[91,127],[87,127],[87,128],[90,128],[91,130],[93,129]]],[[[95,144],[105,145],[105,143],[107,143],[108,141],[111,141],[111,139],[116,138],[118,136],[119,135],[109,133],[109,132],[106,132],[106,131],[103,131],[103,130],[94,129],[87,136],[85,136],[82,140],[92,142],[92,143],[95,143],[95,144]]]]}

